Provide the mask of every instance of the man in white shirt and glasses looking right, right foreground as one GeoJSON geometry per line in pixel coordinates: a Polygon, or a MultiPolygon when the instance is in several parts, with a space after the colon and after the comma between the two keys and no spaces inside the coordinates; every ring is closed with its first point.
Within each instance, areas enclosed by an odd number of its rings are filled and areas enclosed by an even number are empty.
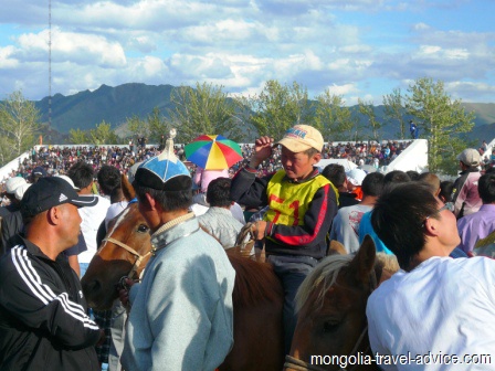
{"type": "Polygon", "coordinates": [[[373,353],[407,357],[379,364],[386,370],[495,370],[495,261],[449,257],[460,237],[447,206],[420,182],[396,186],[375,205],[372,226],[401,267],[366,310],[373,353]]]}

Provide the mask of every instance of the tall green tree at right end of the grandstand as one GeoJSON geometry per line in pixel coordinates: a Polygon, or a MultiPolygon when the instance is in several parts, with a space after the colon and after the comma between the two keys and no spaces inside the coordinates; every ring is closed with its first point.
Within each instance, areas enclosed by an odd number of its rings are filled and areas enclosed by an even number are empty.
{"type": "Polygon", "coordinates": [[[452,100],[442,81],[421,77],[408,92],[407,112],[415,117],[420,132],[428,138],[430,171],[455,174],[455,156],[466,147],[459,134],[473,129],[474,112],[466,113],[460,99],[452,100]]]}

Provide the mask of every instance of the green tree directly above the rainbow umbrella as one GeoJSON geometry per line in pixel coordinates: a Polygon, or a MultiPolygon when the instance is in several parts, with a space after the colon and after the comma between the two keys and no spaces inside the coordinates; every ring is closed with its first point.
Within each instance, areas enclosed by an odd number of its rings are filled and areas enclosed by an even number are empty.
{"type": "Polygon", "coordinates": [[[175,108],[168,112],[167,125],[177,128],[178,141],[190,142],[202,134],[220,134],[232,140],[242,137],[236,102],[223,92],[223,86],[197,83],[196,88],[176,87],[170,103],[175,108]]]}

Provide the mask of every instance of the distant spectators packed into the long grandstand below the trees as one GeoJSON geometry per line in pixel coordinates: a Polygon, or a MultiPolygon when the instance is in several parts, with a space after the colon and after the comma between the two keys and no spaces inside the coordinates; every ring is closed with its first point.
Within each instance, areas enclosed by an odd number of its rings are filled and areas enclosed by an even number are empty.
{"type": "MultiPolygon", "coordinates": [[[[28,179],[36,167],[43,168],[50,174],[63,174],[77,161],[89,163],[96,172],[103,165],[109,165],[116,167],[123,173],[127,173],[134,163],[157,156],[165,147],[162,139],[160,139],[158,146],[141,144],[141,138],[138,139],[136,140],[138,146],[135,146],[134,141],[130,140],[128,146],[42,146],[38,149],[32,148],[30,157],[21,161],[15,169],[11,169],[9,176],[4,177],[1,182],[4,184],[7,178],[15,176],[28,179]]],[[[381,168],[393,161],[411,142],[397,140],[382,141],[381,144],[376,141],[329,141],[324,144],[322,159],[348,159],[358,166],[369,165],[381,168]]],[[[186,162],[193,174],[196,166],[187,162],[183,147],[183,145],[176,145],[176,155],[181,161],[186,162]]],[[[254,145],[243,144],[241,150],[244,161],[235,163],[230,169],[231,176],[251,158],[254,145]]],[[[272,157],[261,163],[259,176],[266,176],[281,168],[281,151],[275,149],[272,157]]]]}

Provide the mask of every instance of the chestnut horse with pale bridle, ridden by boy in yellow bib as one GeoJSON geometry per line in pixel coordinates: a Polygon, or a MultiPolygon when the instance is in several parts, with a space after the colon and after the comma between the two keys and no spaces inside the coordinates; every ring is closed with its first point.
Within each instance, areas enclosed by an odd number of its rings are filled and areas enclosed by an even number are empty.
{"type": "MultiPolygon", "coordinates": [[[[133,187],[123,177],[123,191],[135,198],[133,187]]],[[[123,277],[137,278],[151,251],[149,226],[139,213],[137,202],[108,225],[108,232],[82,278],[88,306],[96,310],[112,307],[117,299],[116,286],[123,277]]],[[[282,285],[272,266],[228,251],[235,269],[232,293],[234,344],[219,370],[276,370],[284,363],[282,285]]]]}

